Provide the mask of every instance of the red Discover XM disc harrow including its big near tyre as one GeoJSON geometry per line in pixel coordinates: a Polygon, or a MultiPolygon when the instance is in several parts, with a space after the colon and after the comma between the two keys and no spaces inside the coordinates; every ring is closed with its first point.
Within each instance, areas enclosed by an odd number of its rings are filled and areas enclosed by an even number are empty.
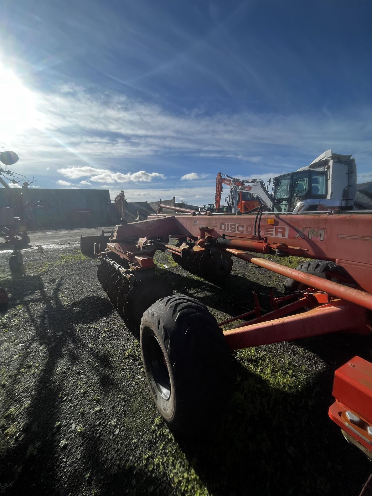
{"type": "MultiPolygon", "coordinates": [[[[234,215],[184,209],[130,224],[122,219],[104,249],[102,241],[82,238],[82,245],[93,248],[96,242],[99,282],[124,319],[140,328],[147,382],[173,430],[200,428],[221,408],[221,398],[228,404],[230,351],[333,332],[369,334],[372,329],[372,211],[281,213],[260,207],[234,215]],[[271,296],[270,312],[263,313],[256,299],[254,309],[217,323],[204,305],[173,295],[156,275],[156,250],[170,252],[184,269],[214,283],[223,282],[232,258],[238,257],[285,276],[285,292],[271,296]],[[309,261],[293,269],[259,254],[309,261]],[[246,322],[223,331],[223,325],[238,319],[246,322]]],[[[330,415],[350,436],[362,435],[360,444],[371,449],[372,366],[364,367],[364,375],[357,359],[355,366],[348,366],[354,375],[336,374],[337,401],[330,415]],[[359,412],[350,404],[356,397],[359,412]],[[367,409],[361,408],[365,401],[367,409]],[[359,424],[352,424],[350,412],[359,424]]]]}

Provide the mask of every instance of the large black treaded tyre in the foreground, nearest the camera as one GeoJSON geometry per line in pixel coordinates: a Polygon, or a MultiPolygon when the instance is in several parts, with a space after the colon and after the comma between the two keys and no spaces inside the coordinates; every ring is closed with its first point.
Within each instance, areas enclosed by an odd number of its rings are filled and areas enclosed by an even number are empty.
{"type": "Polygon", "coordinates": [[[200,432],[227,407],[233,390],[230,351],[207,308],[184,296],[145,311],[142,362],[155,404],[169,428],[200,432]]]}

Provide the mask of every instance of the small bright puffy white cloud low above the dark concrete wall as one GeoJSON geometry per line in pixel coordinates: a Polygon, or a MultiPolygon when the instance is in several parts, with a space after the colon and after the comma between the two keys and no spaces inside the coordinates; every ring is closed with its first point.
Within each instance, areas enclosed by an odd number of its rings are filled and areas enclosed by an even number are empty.
{"type": "MultiPolygon", "coordinates": [[[[95,183],[127,183],[128,181],[133,181],[134,183],[146,182],[149,183],[154,178],[165,179],[163,174],[157,172],[128,172],[122,174],[121,172],[112,172],[108,169],[96,169],[94,167],[67,167],[64,169],[59,169],[59,173],[63,174],[69,179],[77,179],[84,176],[90,176],[89,181],[95,183]]],[[[87,182],[81,182],[80,184],[89,184],[87,182]]]]}

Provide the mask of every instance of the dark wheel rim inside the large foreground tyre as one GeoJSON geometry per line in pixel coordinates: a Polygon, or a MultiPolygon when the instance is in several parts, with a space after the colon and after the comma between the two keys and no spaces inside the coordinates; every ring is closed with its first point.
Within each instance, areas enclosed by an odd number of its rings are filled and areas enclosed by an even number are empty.
{"type": "Polygon", "coordinates": [[[168,400],[171,396],[171,379],[167,361],[159,341],[153,334],[150,334],[147,339],[147,359],[158,393],[168,400]]]}

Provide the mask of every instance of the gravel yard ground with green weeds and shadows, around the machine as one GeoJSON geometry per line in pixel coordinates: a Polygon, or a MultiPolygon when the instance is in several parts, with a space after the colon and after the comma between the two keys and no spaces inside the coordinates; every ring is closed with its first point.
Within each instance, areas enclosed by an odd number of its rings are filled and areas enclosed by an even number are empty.
{"type": "MultiPolygon", "coordinates": [[[[153,405],[136,330],[125,327],[81,255],[81,231],[35,235],[0,320],[0,493],[9,495],[358,495],[372,465],[328,419],[334,369],[367,338],[329,335],[234,353],[228,413],[197,439],[174,437],[153,405]],[[64,233],[64,234],[63,234],[64,233]],[[39,241],[38,241],[39,240],[39,241]],[[45,241],[46,240],[46,241],[45,241]]],[[[94,233],[93,233],[94,234],[94,233]]],[[[268,310],[283,278],[234,261],[223,288],[167,253],[158,275],[217,320],[268,310]]],[[[221,404],[224,398],[221,398],[221,404]]]]}

